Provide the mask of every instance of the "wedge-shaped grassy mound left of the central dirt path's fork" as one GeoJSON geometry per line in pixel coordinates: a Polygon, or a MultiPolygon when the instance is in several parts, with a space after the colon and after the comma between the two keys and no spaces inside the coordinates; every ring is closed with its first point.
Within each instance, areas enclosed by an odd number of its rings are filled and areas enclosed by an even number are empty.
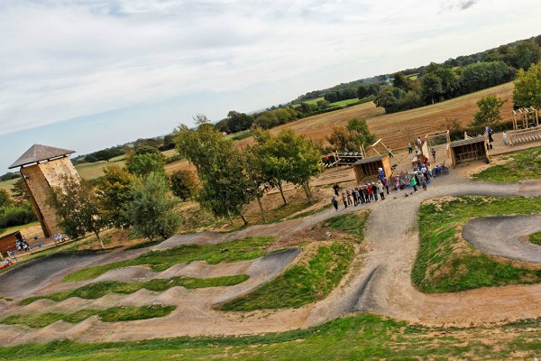
{"type": "Polygon", "coordinates": [[[334,242],[320,246],[316,255],[307,264],[289,267],[271,282],[263,284],[254,292],[225,302],[219,310],[262,310],[300,307],[322,300],[328,295],[353,260],[353,245],[334,242]]]}

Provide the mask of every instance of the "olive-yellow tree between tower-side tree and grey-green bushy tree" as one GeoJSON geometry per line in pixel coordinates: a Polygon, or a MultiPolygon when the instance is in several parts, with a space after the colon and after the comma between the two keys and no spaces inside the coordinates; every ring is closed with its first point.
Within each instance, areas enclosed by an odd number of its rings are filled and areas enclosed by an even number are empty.
{"type": "Polygon", "coordinates": [[[104,176],[97,180],[96,194],[104,211],[103,218],[115,227],[131,227],[125,211],[131,200],[131,187],[135,177],[126,167],[118,164],[104,168],[104,176]]]}

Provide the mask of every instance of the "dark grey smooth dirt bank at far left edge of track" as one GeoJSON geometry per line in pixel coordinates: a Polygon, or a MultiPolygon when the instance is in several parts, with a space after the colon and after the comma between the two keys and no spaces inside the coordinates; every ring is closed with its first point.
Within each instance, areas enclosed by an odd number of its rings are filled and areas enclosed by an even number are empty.
{"type": "Polygon", "coordinates": [[[96,252],[58,253],[17,265],[0,274],[0,295],[17,298],[39,290],[60,273],[103,257],[96,252]]]}

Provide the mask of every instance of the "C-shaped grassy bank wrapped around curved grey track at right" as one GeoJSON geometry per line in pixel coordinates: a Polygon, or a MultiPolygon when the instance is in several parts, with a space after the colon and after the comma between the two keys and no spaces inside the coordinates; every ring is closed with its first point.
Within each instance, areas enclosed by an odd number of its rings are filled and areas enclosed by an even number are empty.
{"type": "Polygon", "coordinates": [[[541,270],[516,267],[460,243],[457,224],[483,216],[541,213],[541,197],[458,197],[422,205],[412,281],[421,292],[459,292],[486,286],[541,282],[541,270]],[[457,247],[460,251],[457,250],[457,247]]]}

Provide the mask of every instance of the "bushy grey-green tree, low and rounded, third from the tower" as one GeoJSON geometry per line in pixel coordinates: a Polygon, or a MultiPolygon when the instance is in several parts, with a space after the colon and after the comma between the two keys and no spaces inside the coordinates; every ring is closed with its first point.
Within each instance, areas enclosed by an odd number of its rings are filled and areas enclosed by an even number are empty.
{"type": "Polygon", "coordinates": [[[160,173],[151,172],[133,182],[125,218],[133,224],[133,231],[150,240],[160,236],[167,239],[180,227],[174,210],[177,200],[167,180],[160,173]]]}

